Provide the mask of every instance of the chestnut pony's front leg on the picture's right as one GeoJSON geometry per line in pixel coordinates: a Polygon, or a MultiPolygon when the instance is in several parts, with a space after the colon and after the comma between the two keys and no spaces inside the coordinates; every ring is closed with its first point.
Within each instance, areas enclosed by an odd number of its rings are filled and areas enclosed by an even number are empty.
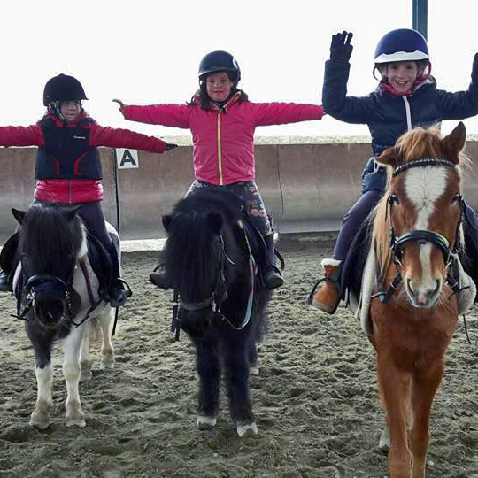
{"type": "Polygon", "coordinates": [[[412,429],[410,448],[412,450],[412,478],[425,477],[425,464],[428,451],[429,420],[436,390],[442,382],[443,361],[420,377],[414,377],[412,388],[412,429]]]}

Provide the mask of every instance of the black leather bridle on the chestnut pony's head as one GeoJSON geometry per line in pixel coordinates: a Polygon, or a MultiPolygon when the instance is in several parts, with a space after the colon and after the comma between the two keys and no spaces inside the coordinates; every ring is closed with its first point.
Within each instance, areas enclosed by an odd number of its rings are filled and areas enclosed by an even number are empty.
{"type": "MultiPolygon", "coordinates": [[[[392,173],[392,178],[397,176],[399,173],[403,173],[407,169],[412,167],[425,167],[425,166],[446,166],[455,168],[456,165],[449,159],[443,158],[424,158],[414,161],[409,161],[401,166],[398,166],[394,169],[392,173]]],[[[390,249],[392,251],[392,258],[395,266],[397,267],[397,275],[395,279],[390,283],[389,288],[383,290],[383,281],[382,281],[382,272],[380,266],[376,264],[376,275],[377,275],[377,287],[378,293],[374,294],[372,297],[379,297],[382,303],[387,303],[389,298],[397,290],[398,286],[402,282],[402,255],[407,243],[433,243],[435,244],[440,251],[443,253],[443,259],[445,263],[445,270],[447,271],[446,282],[450,285],[453,293],[456,294],[459,292],[459,282],[450,274],[451,266],[455,263],[458,258],[458,253],[460,250],[460,241],[459,241],[459,228],[461,226],[461,221],[463,213],[465,211],[465,201],[463,197],[459,194],[457,195],[457,200],[459,201],[460,214],[459,220],[457,222],[456,233],[455,233],[455,243],[453,248],[450,247],[450,242],[446,237],[437,233],[436,231],[429,231],[428,229],[415,229],[410,232],[405,233],[397,237],[395,234],[395,228],[393,224],[390,227],[390,249]]],[[[390,223],[391,223],[391,210],[394,203],[397,202],[397,196],[390,194],[387,198],[387,214],[390,214],[390,223]]],[[[387,216],[386,216],[387,217],[387,216]]]]}

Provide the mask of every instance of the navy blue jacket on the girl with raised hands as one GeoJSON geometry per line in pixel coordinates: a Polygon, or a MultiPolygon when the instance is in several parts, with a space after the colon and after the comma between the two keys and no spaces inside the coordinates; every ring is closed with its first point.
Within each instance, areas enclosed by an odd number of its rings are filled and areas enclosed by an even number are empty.
{"type": "MultiPolygon", "coordinates": [[[[442,120],[463,120],[478,114],[478,78],[474,75],[467,91],[437,89],[435,79],[430,77],[409,96],[395,96],[379,87],[368,96],[358,97],[347,96],[349,71],[349,63],[326,62],[322,105],[336,120],[366,124],[374,156],[393,146],[413,127],[430,127],[442,120]]],[[[386,169],[369,161],[362,180],[362,192],[382,191],[386,169]]]]}

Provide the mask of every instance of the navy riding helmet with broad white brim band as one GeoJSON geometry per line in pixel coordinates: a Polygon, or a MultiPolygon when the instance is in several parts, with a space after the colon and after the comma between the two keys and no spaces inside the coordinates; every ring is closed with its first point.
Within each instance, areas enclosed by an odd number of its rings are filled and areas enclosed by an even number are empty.
{"type": "Polygon", "coordinates": [[[429,60],[427,40],[411,28],[392,30],[378,42],[374,58],[375,64],[429,60]]]}

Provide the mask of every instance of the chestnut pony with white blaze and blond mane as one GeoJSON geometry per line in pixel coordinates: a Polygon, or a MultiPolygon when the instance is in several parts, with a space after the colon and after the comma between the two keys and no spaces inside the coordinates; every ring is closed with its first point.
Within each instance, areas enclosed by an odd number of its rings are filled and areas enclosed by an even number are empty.
{"type": "Polygon", "coordinates": [[[415,128],[377,158],[392,173],[374,212],[366,327],[387,413],[382,439],[389,434],[392,478],[425,476],[430,411],[462,290],[456,270],[465,139],[463,123],[443,138],[436,129],[415,128]]]}

